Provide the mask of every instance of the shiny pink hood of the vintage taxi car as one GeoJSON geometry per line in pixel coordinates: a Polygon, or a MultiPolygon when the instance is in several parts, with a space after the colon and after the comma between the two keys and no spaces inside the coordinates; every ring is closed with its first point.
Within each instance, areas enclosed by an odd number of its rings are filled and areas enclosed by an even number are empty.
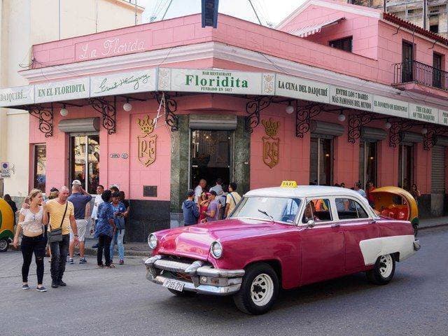
{"type": "Polygon", "coordinates": [[[163,230],[155,232],[159,239],[157,253],[207,260],[213,241],[218,240],[225,245],[226,241],[271,235],[288,227],[290,225],[255,219],[226,219],[163,230]]]}

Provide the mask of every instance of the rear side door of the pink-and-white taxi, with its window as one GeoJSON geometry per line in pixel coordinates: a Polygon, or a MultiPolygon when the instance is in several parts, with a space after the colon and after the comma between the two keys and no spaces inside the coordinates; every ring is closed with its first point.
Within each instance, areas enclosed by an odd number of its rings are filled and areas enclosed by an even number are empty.
{"type": "Polygon", "coordinates": [[[344,233],[345,270],[347,273],[363,270],[365,262],[359,243],[379,237],[377,223],[364,205],[351,197],[335,197],[337,219],[344,233]]]}

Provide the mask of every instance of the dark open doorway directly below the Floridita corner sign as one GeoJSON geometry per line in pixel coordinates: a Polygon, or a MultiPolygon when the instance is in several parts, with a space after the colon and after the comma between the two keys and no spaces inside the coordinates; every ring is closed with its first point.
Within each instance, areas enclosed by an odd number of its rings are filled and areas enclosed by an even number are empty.
{"type": "Polygon", "coordinates": [[[228,186],[232,177],[230,174],[232,144],[232,131],[191,131],[191,188],[195,188],[200,179],[207,181],[207,190],[215,185],[216,179],[222,179],[223,185],[228,186]]]}

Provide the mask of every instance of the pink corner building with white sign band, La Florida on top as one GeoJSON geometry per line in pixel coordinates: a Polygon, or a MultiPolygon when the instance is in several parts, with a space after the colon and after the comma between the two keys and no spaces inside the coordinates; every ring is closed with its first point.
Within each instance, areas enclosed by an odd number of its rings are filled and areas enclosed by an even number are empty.
{"type": "Polygon", "coordinates": [[[299,184],[418,186],[447,212],[448,41],[381,11],[310,0],[270,29],[200,15],[34,45],[29,188],[80,179],[130,199],[130,240],[181,223],[199,179],[240,193],[299,184]]]}

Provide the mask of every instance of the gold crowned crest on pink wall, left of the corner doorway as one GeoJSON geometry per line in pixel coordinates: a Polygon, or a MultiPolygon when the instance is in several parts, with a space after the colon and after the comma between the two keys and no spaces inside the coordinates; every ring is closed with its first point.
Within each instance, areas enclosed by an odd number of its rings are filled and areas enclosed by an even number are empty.
{"type": "Polygon", "coordinates": [[[144,118],[137,119],[137,125],[139,125],[143,136],[138,136],[139,148],[137,157],[142,165],[148,167],[155,162],[157,135],[151,134],[154,131],[154,120],[146,116],[144,118]]]}

